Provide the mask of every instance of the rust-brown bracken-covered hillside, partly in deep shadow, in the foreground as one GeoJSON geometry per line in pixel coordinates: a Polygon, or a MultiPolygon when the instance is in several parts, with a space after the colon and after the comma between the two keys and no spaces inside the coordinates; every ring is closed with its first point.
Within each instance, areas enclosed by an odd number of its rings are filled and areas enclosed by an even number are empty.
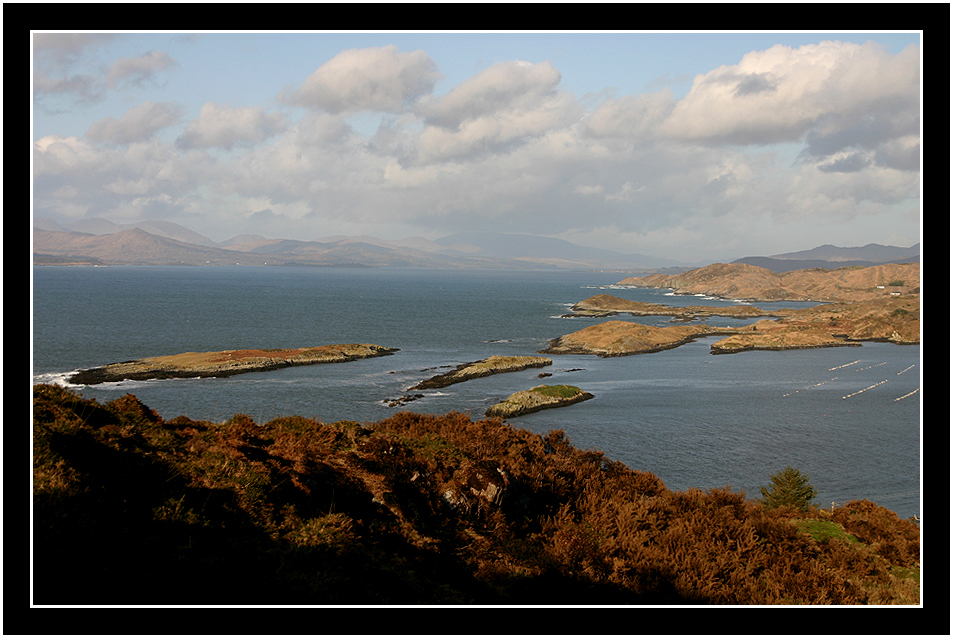
{"type": "Polygon", "coordinates": [[[873,503],[674,492],[500,419],[216,424],[40,385],[33,455],[35,604],[919,601],[919,528],[873,503]]]}

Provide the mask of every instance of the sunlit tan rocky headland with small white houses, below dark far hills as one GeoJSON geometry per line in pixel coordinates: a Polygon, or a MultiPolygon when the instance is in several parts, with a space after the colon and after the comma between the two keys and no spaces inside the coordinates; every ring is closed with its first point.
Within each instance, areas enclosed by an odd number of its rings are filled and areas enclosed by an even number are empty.
{"type": "Polygon", "coordinates": [[[627,277],[619,284],[671,288],[679,295],[702,294],[750,301],[867,301],[891,295],[918,294],[920,264],[784,273],[750,264],[711,264],[677,275],[627,277]]]}

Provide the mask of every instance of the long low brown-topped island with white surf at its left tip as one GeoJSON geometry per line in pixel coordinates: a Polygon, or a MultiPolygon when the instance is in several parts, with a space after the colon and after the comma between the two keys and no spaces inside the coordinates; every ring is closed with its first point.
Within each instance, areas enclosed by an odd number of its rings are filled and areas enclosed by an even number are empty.
{"type": "Polygon", "coordinates": [[[289,366],[316,363],[343,363],[397,352],[366,343],[348,343],[311,348],[275,348],[222,350],[219,352],[184,352],[146,357],[135,361],[110,363],[100,368],[80,370],[67,381],[78,385],[95,385],[110,381],[146,379],[181,379],[193,377],[228,377],[245,372],[277,370],[289,366]]]}

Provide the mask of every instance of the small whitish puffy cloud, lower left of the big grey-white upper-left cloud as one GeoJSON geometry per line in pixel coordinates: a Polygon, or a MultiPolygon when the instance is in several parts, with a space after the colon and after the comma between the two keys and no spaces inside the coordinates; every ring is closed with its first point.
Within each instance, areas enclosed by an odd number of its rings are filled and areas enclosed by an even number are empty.
{"type": "Polygon", "coordinates": [[[230,107],[207,102],[176,140],[184,149],[224,148],[257,144],[287,128],[280,114],[266,113],[262,107],[230,107]]]}

